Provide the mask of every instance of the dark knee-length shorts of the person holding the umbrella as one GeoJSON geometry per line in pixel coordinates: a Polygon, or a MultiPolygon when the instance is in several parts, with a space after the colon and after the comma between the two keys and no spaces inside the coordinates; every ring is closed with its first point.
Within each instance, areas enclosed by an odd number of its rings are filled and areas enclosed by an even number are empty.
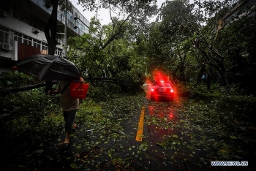
{"type": "Polygon", "coordinates": [[[65,132],[68,134],[72,133],[73,123],[75,121],[75,113],[77,110],[63,111],[64,121],[65,121],[65,132]]]}

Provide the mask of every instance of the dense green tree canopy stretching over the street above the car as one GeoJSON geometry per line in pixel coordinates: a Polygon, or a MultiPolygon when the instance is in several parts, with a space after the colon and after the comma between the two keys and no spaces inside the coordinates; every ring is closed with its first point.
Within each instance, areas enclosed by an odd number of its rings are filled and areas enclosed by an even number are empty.
{"type": "MultiPolygon", "coordinates": [[[[55,8],[63,1],[49,1],[54,8],[45,36],[51,54],[56,46],[55,8]]],[[[143,83],[161,69],[185,83],[203,80],[208,90],[212,83],[242,83],[252,90],[256,27],[255,3],[250,2],[173,0],[157,9],[153,0],[80,0],[84,9],[108,8],[111,23],[91,18],[89,34],[68,39],[67,58],[89,80],[143,83]],[[112,17],[112,12],[120,13],[112,17]],[[149,22],[152,15],[157,19],[149,22]]]]}

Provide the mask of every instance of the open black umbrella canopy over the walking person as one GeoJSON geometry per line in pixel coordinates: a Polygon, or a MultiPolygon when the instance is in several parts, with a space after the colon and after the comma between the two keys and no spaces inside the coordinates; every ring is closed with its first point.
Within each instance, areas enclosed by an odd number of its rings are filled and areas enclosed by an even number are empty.
{"type": "Polygon", "coordinates": [[[18,69],[40,80],[79,80],[78,67],[58,56],[38,54],[16,61],[18,69]]]}

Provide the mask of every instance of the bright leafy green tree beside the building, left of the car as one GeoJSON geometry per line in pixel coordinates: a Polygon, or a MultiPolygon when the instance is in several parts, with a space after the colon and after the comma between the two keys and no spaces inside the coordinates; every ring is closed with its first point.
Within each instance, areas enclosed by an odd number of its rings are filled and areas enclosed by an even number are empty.
{"type": "Polygon", "coordinates": [[[128,30],[131,31],[133,27],[124,21],[120,23],[126,31],[121,31],[116,39],[112,39],[112,26],[110,24],[101,26],[96,18],[91,20],[90,34],[69,39],[69,56],[74,58],[81,70],[86,71],[89,78],[111,77],[133,81],[129,75],[133,70],[130,62],[138,64],[135,58],[131,59],[135,56],[136,44],[128,30]]]}

